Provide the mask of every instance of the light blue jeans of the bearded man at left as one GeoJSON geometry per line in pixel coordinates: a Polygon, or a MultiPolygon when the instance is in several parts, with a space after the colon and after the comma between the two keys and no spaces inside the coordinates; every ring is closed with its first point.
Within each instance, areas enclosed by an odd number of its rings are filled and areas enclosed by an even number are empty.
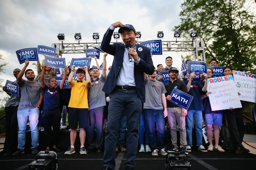
{"type": "Polygon", "coordinates": [[[29,118],[30,130],[31,130],[31,141],[32,147],[38,147],[38,117],[39,117],[39,109],[18,109],[17,111],[17,120],[18,120],[18,149],[25,149],[25,141],[26,141],[26,124],[29,118]]]}

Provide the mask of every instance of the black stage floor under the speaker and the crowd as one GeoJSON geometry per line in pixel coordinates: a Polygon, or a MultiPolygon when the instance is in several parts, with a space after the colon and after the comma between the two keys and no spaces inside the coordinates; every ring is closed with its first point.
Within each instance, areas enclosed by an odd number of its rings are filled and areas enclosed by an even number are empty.
{"type": "MultiPolygon", "coordinates": [[[[28,133],[27,139],[29,136],[30,133],[28,133]]],[[[41,132],[40,140],[42,139],[41,132]]],[[[57,153],[58,170],[102,170],[103,153],[92,152],[88,155],[80,155],[77,145],[76,153],[64,155],[64,150],[69,146],[69,132],[62,132],[60,139],[64,144],[59,146],[63,151],[57,153]]],[[[27,140],[26,144],[29,142],[27,140]]],[[[31,153],[30,149],[25,151],[25,154],[19,156],[0,156],[0,170],[28,170],[28,165],[35,160],[35,155],[31,153]]],[[[187,157],[191,164],[191,170],[256,170],[256,155],[250,153],[235,154],[216,151],[203,153],[196,147],[192,147],[192,152],[187,157]]],[[[125,161],[125,153],[116,153],[115,170],[125,170],[125,161]]],[[[166,170],[165,161],[166,156],[151,156],[149,152],[138,152],[135,169],[166,170]]]]}

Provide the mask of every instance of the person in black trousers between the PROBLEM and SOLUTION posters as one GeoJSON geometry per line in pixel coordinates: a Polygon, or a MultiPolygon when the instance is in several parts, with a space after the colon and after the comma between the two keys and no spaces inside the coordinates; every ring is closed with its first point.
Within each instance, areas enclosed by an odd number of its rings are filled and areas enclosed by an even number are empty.
{"type": "MultiPolygon", "coordinates": [[[[232,75],[232,68],[230,66],[224,67],[223,74],[224,76],[232,75]]],[[[236,146],[234,152],[237,154],[241,154],[243,152],[250,152],[250,150],[246,149],[242,145],[242,141],[244,139],[244,118],[242,108],[230,107],[228,110],[224,110],[223,112],[227,117],[228,129],[230,131],[231,138],[233,139],[236,146]]]]}

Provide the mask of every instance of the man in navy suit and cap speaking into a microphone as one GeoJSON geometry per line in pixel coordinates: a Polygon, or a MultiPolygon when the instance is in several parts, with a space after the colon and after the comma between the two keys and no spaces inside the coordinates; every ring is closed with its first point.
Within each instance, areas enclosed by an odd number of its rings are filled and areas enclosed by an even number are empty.
{"type": "Polygon", "coordinates": [[[114,56],[111,71],[106,78],[103,91],[110,94],[108,126],[105,134],[103,170],[115,169],[116,139],[122,115],[127,117],[126,170],[133,170],[138,144],[140,114],[145,102],[146,74],[154,73],[150,49],[138,44],[135,28],[131,24],[116,22],[106,31],[101,49],[114,56]],[[119,28],[122,43],[111,42],[114,29],[119,28]]]}

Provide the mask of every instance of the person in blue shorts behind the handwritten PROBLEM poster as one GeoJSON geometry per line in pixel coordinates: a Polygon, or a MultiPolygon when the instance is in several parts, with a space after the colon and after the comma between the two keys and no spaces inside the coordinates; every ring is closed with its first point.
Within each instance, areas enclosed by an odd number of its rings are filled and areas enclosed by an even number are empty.
{"type": "MultiPolygon", "coordinates": [[[[212,68],[207,68],[207,78],[212,78],[213,71],[212,68]]],[[[204,122],[206,124],[207,130],[207,138],[209,142],[209,146],[207,148],[208,151],[216,150],[218,152],[225,152],[224,149],[218,144],[220,137],[220,126],[222,126],[222,111],[212,111],[208,94],[211,92],[207,92],[206,94],[201,96],[203,99],[204,105],[204,122]],[[212,134],[212,126],[213,126],[213,134],[212,134]],[[215,145],[213,146],[212,138],[214,136],[215,145]]]]}

